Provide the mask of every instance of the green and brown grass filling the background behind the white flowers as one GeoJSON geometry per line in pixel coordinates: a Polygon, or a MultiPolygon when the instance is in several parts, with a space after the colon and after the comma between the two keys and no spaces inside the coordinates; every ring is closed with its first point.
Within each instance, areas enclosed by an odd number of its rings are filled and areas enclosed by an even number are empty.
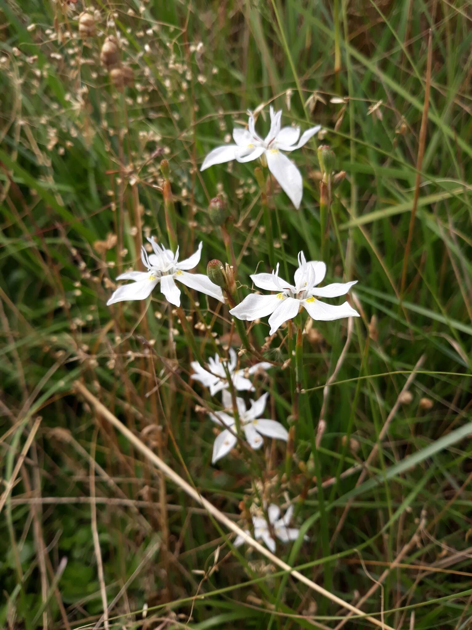
{"type": "MultiPolygon", "coordinates": [[[[87,8],[98,13],[97,35],[86,41],[77,37],[81,3],[7,0],[0,13],[0,626],[94,627],[100,581],[110,627],[335,628],[346,616],[247,547],[233,554],[205,512],[77,396],[81,379],[240,523],[255,487],[279,505],[295,501],[309,541],[280,545],[278,556],[304,565],[331,592],[357,604],[374,587],[361,608],[394,627],[469,627],[469,3],[147,0],[87,8]],[[103,33],[120,35],[121,59],[133,69],[135,85],[124,92],[99,62],[103,33]],[[344,101],[331,103],[334,96],[344,101]],[[206,212],[223,193],[240,297],[258,264],[269,270],[254,164],[198,170],[262,102],[283,108],[285,124],[321,123],[337,170],[346,171],[323,257],[328,280],[359,281],[352,297],[362,315],[349,336],[346,320],[314,323],[304,336],[311,391],[301,396],[288,476],[279,443],[266,445],[265,458],[248,460],[239,449],[211,466],[214,426],[184,387],[191,352],[162,294],[149,304],[105,306],[118,272],[138,260],[142,231],[167,240],[162,157],[181,257],[203,240],[199,272],[211,258],[226,260],[206,212]],[[316,449],[323,386],[341,356],[316,449]],[[399,401],[419,361],[411,396],[399,401]],[[340,476],[362,462],[360,485],[360,467],[340,476]]],[[[267,115],[258,125],[265,132],[267,115]]],[[[300,249],[320,258],[320,141],[291,156],[303,173],[301,209],[277,190],[270,200],[276,257],[289,277],[300,249]]],[[[202,297],[197,312],[183,296],[203,355],[215,352],[211,333],[225,355],[227,306],[215,311],[202,297]]],[[[264,347],[280,364],[289,358],[285,334],[264,347]]],[[[251,335],[264,344],[266,319],[251,335]]],[[[289,368],[257,381],[258,391],[267,388],[272,417],[288,426],[289,368]]]]}

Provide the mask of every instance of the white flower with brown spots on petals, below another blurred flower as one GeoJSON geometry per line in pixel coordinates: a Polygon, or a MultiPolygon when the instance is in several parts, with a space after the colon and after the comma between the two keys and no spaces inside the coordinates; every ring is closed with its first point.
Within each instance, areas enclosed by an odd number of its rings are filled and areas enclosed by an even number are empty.
{"type": "MultiPolygon", "coordinates": [[[[262,394],[261,398],[258,400],[250,401],[250,409],[247,409],[242,398],[236,399],[240,426],[244,430],[249,446],[254,450],[260,449],[262,446],[263,440],[261,435],[267,435],[267,437],[273,437],[277,440],[287,441],[288,439],[288,431],[281,425],[281,423],[276,420],[259,418],[266,408],[267,396],[269,396],[269,394],[262,394]]],[[[229,410],[232,410],[233,408],[231,394],[228,391],[223,391],[223,406],[229,410]]],[[[237,438],[235,436],[236,421],[233,416],[228,415],[225,411],[218,411],[218,415],[215,415],[214,413],[210,413],[208,415],[211,420],[217,422],[219,425],[223,425],[224,427],[229,427],[232,430],[228,431],[226,428],[216,438],[215,444],[213,444],[213,457],[211,458],[211,463],[215,464],[218,459],[222,459],[222,457],[227,455],[237,442],[237,438]]]]}

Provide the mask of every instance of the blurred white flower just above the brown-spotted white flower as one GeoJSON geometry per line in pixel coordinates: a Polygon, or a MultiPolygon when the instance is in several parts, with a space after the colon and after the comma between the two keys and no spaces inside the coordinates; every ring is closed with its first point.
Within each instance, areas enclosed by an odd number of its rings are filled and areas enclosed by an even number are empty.
{"type": "Polygon", "coordinates": [[[230,348],[229,362],[224,359],[221,360],[217,354],[215,354],[215,358],[210,357],[208,359],[208,367],[210,368],[210,371],[201,367],[198,361],[192,361],[190,365],[195,372],[195,374],[192,374],[192,378],[194,381],[201,382],[203,386],[210,387],[211,396],[215,396],[217,392],[229,387],[228,377],[225,371],[226,365],[235,389],[240,391],[254,391],[254,386],[246,377],[246,374],[255,374],[259,369],[268,370],[269,367],[272,367],[271,363],[262,362],[256,363],[256,365],[251,365],[251,367],[246,368],[245,370],[237,370],[237,362],[237,356],[233,348],[230,348]]]}

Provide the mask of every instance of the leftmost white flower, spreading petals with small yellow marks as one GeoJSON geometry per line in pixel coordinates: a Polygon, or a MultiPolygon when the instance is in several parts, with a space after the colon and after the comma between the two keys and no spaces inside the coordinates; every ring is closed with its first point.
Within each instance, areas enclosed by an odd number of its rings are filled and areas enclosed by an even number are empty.
{"type": "Polygon", "coordinates": [[[190,258],[186,258],[186,260],[179,263],[178,247],[174,256],[170,249],[165,249],[163,245],[158,245],[154,239],[149,238],[147,240],[154,250],[154,254],[148,256],[147,251],[143,247],[141,248],[141,260],[147,268],[147,272],[121,273],[116,280],[134,280],[134,282],[118,287],[108,302],[106,302],[107,306],[123,300],[144,300],[159,282],[160,290],[166,296],[167,302],[171,302],[174,306],[180,306],[180,289],[174,280],[179,280],[186,287],[211,295],[211,297],[215,297],[223,304],[225,303],[222,290],[216,284],[213,284],[210,278],[203,275],[203,273],[187,273],[186,271],[198,265],[202,243],[199,244],[197,251],[190,258]]]}

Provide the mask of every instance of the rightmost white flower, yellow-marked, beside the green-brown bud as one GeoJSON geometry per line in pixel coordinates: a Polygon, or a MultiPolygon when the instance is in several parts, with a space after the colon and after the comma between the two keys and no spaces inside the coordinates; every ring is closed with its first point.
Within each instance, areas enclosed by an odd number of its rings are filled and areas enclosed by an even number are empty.
{"type": "Polygon", "coordinates": [[[340,306],[320,302],[317,297],[337,297],[346,295],[354,282],[335,282],[326,287],[315,288],[322,282],[326,273],[326,265],[318,260],[306,262],[303,251],[298,254],[298,269],[295,272],[295,286],[279,278],[279,265],[272,273],[256,273],[251,276],[252,282],[259,289],[277,291],[276,295],[247,295],[240,304],[230,310],[238,319],[253,321],[270,315],[270,334],[281,326],[284,321],[293,319],[301,307],[308,311],[313,319],[332,321],[344,317],[359,317],[359,313],[347,302],[340,306]]]}

